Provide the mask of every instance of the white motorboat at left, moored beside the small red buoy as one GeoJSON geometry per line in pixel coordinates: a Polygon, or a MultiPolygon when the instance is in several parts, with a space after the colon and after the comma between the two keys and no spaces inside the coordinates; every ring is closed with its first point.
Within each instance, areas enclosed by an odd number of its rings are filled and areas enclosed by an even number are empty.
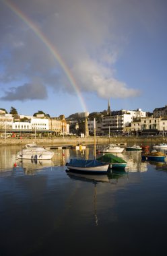
{"type": "Polygon", "coordinates": [[[36,143],[32,143],[26,144],[26,146],[18,152],[16,159],[46,160],[53,158],[54,154],[54,152],[46,150],[36,145],[36,143]]]}

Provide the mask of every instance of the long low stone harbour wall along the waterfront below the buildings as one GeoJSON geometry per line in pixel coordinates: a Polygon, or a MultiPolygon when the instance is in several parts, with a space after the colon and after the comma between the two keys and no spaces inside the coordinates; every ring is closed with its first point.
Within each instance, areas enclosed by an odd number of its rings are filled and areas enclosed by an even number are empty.
{"type": "MultiPolygon", "coordinates": [[[[96,136],[96,144],[108,143],[136,143],[143,145],[147,143],[167,143],[167,137],[98,137],[96,136]]],[[[43,146],[76,146],[78,143],[85,145],[94,144],[94,136],[87,138],[81,137],[46,137],[46,138],[10,138],[0,139],[0,146],[26,145],[28,143],[36,143],[43,146]]]]}

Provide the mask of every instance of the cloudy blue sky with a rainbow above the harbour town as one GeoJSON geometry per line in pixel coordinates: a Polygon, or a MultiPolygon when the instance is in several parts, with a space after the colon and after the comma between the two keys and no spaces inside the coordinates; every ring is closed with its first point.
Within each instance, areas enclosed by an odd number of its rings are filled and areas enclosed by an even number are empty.
{"type": "Polygon", "coordinates": [[[166,0],[0,0],[0,108],[165,106],[166,24],[166,0]]]}

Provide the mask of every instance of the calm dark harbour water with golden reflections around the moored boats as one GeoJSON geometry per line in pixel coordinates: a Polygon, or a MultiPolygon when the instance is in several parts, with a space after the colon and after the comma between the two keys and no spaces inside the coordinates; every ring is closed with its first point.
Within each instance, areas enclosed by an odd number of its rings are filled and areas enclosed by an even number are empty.
{"type": "Polygon", "coordinates": [[[16,161],[20,147],[0,150],[0,255],[166,255],[167,164],[123,152],[126,172],[78,176],[71,157],[16,161]],[[16,164],[16,166],[14,166],[16,164]]]}

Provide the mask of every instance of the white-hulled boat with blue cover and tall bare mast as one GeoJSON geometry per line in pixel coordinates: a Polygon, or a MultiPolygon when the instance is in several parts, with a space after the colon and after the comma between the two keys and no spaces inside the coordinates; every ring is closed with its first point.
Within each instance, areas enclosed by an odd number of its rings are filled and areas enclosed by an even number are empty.
{"type": "Polygon", "coordinates": [[[94,174],[104,174],[108,172],[109,164],[106,162],[100,162],[96,160],[96,119],[94,119],[94,159],[75,159],[72,158],[70,162],[66,163],[69,170],[94,173],[94,174]]]}

